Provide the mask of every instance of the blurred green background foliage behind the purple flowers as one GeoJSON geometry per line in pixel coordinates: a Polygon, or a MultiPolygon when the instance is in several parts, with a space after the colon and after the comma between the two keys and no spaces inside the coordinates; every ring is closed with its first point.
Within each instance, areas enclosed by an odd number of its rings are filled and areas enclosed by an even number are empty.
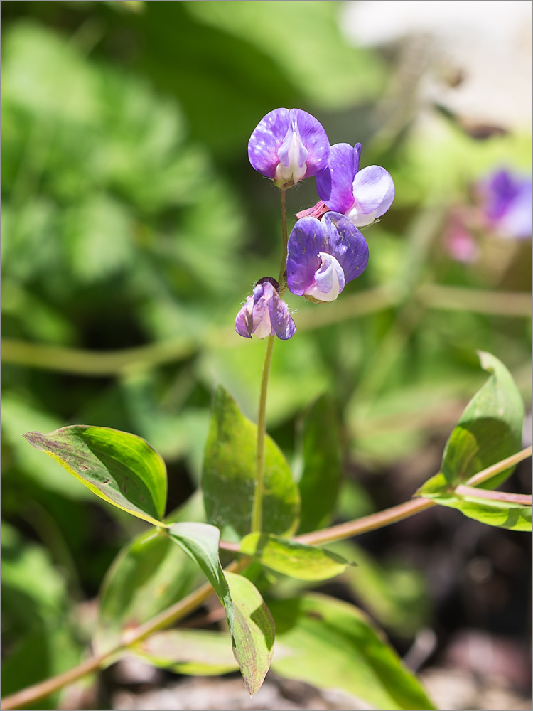
{"type": "MultiPolygon", "coordinates": [[[[95,595],[124,541],[144,530],[88,503],[81,484],[19,435],[65,424],[139,434],[166,459],[175,508],[198,484],[213,383],[254,418],[264,344],[240,339],[232,323],[252,284],[279,267],[278,196],[246,151],[269,110],[298,106],[332,142],[361,140],[362,165],[384,165],[397,194],[365,232],[369,267],[342,299],[317,307],[289,295],[298,333],[276,343],[268,402],[289,461],[298,413],[328,392],[341,429],[340,512],[354,518],[378,506],[355,471],[372,480],[422,453],[385,505],[434,474],[424,463],[438,467],[435,449],[483,380],[476,349],[495,353],[529,391],[531,331],[508,292],[529,290],[531,242],[482,235],[480,260],[461,264],[444,235],[472,181],[502,164],[529,167],[531,137],[476,141],[437,114],[385,131],[375,107],[394,66],[348,46],[338,10],[321,0],[2,8],[3,605],[13,689],[72,665],[64,649],[87,636],[69,610],[95,595]],[[421,284],[441,291],[424,296],[421,284]],[[498,308],[446,287],[490,290],[498,308]],[[41,668],[26,663],[38,648],[49,660],[41,668]]],[[[313,181],[291,191],[292,219],[315,201],[313,181]]],[[[409,635],[430,614],[419,604],[424,582],[397,561],[381,565],[369,562],[366,593],[353,582],[357,568],[346,584],[381,624],[409,635]]]]}

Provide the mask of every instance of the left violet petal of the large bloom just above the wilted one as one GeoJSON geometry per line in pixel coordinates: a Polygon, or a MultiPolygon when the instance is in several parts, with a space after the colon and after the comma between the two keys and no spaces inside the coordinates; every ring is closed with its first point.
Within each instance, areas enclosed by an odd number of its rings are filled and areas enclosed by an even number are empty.
{"type": "Polygon", "coordinates": [[[293,294],[301,296],[313,284],[321,265],[318,252],[328,251],[323,249],[324,237],[323,225],[316,218],[302,218],[294,225],[287,244],[287,285],[293,294]]]}

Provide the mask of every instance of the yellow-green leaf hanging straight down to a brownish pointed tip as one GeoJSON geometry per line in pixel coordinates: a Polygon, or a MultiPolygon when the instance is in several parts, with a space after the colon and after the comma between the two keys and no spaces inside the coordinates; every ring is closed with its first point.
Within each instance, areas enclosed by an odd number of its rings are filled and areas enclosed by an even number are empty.
{"type": "Polygon", "coordinates": [[[233,653],[244,685],[254,695],[263,683],[274,654],[274,620],[249,579],[226,573],[235,610],[233,653]]]}

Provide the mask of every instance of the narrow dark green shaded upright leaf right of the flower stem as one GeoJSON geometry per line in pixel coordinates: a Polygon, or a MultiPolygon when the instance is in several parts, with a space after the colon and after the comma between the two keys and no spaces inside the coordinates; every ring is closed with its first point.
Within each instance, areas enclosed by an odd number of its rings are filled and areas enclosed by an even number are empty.
{"type": "Polygon", "coordinates": [[[299,533],[327,525],[340,484],[340,433],[333,401],[322,395],[303,419],[299,533]]]}

